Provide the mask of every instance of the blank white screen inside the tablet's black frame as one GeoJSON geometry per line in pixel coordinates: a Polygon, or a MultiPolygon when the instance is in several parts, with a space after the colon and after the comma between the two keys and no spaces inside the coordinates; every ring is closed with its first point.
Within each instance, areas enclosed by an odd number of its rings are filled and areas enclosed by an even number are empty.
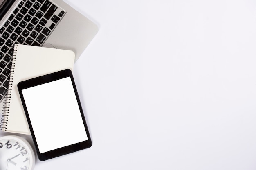
{"type": "Polygon", "coordinates": [[[70,77],[22,94],[40,153],[88,140],[70,77]]]}

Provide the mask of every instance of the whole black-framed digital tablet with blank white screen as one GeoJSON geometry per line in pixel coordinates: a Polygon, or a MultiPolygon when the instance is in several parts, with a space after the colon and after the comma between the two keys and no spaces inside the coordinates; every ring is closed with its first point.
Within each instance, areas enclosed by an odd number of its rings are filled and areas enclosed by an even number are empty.
{"type": "Polygon", "coordinates": [[[92,146],[71,70],[22,81],[18,91],[39,160],[92,146]]]}

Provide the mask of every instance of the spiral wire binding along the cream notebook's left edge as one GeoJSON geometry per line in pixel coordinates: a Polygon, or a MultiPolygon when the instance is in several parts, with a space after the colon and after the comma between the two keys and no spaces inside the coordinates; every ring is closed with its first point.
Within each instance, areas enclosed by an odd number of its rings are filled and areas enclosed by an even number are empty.
{"type": "Polygon", "coordinates": [[[8,126],[8,116],[9,116],[9,106],[10,106],[10,96],[11,96],[11,90],[12,90],[12,80],[13,80],[13,70],[15,66],[15,61],[16,61],[16,49],[17,49],[17,44],[14,44],[14,51],[13,51],[13,57],[11,58],[12,65],[11,65],[11,72],[10,72],[10,80],[9,80],[9,86],[8,86],[8,91],[6,95],[4,96],[4,107],[3,107],[3,112],[1,115],[1,121],[0,121],[0,129],[3,131],[6,131],[7,126],[8,126]]]}

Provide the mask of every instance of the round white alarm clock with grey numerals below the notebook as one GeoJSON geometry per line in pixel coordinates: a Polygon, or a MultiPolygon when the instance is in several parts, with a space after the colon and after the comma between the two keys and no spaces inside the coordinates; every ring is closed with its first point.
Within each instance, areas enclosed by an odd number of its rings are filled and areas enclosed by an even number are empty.
{"type": "Polygon", "coordinates": [[[32,170],[36,163],[33,148],[19,136],[0,137],[0,170],[32,170]]]}

